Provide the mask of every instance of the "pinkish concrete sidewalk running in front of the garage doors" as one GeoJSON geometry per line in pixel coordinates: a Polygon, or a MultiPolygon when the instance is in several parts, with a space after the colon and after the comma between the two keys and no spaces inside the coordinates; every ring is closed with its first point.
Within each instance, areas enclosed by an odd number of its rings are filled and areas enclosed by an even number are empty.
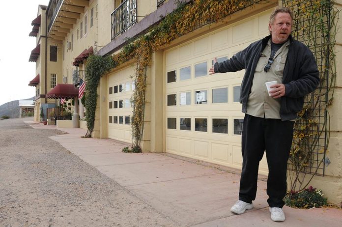
{"type": "MultiPolygon", "coordinates": [[[[56,126],[33,124],[36,129],[56,126]]],[[[293,209],[284,206],[286,221],[270,219],[266,182],[260,176],[255,208],[242,215],[229,209],[238,197],[240,170],[219,167],[165,153],[123,153],[130,144],[81,138],[83,129],[50,137],[134,195],[184,227],[341,227],[342,209],[293,209]]]]}

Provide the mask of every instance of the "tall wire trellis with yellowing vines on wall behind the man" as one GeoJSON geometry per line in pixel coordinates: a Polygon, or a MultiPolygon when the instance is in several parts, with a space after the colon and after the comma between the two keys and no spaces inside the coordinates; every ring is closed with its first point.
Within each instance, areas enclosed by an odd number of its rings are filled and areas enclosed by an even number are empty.
{"type": "Polygon", "coordinates": [[[314,175],[324,176],[328,164],[329,112],[335,86],[336,16],[330,0],[283,0],[292,9],[292,36],[313,52],[320,71],[320,84],[309,94],[295,121],[288,170],[291,190],[304,189],[314,175]],[[304,180],[311,174],[309,180],[304,180]],[[306,183],[305,183],[305,182],[306,183]]]}

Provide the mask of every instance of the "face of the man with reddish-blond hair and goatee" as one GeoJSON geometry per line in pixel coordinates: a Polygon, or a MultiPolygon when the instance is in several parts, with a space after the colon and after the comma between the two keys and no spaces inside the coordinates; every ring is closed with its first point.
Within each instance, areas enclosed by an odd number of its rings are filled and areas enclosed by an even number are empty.
{"type": "Polygon", "coordinates": [[[272,24],[268,25],[273,43],[284,43],[292,30],[292,20],[288,13],[277,13],[272,24]]]}

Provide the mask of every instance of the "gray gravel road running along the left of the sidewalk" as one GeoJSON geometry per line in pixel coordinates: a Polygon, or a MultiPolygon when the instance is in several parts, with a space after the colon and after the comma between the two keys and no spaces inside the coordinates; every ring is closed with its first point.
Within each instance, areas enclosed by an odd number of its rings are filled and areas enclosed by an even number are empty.
{"type": "Polygon", "coordinates": [[[58,134],[0,120],[1,227],[178,226],[48,138],[58,134]]]}

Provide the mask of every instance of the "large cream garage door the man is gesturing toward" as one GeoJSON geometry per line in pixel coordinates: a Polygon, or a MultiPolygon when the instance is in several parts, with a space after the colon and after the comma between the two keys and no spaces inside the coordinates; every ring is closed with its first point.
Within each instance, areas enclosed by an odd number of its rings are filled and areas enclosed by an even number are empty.
{"type": "MultiPolygon", "coordinates": [[[[213,58],[223,61],[268,35],[270,11],[165,51],[165,150],[242,168],[239,103],[244,70],[209,75],[213,58]]],[[[266,155],[259,172],[267,173],[266,155]]]]}

